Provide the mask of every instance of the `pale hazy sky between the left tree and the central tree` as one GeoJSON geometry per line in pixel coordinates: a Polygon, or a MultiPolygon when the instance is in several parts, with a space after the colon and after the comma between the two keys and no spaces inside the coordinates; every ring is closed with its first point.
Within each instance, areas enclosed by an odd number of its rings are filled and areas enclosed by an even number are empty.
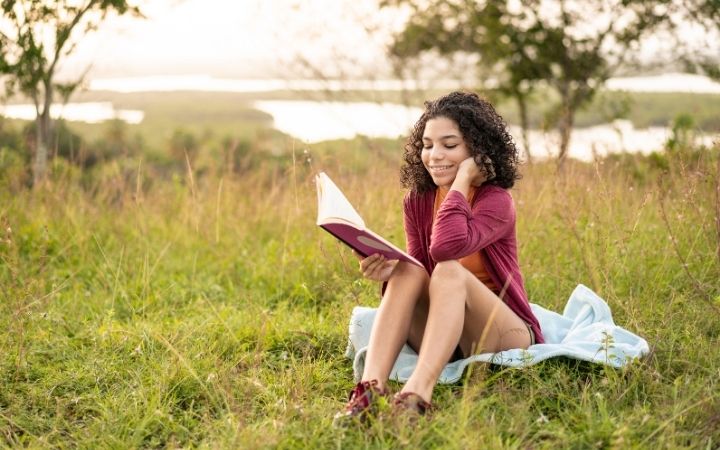
{"type": "MultiPolygon", "coordinates": [[[[95,77],[165,75],[277,76],[298,51],[323,61],[338,48],[360,60],[382,55],[353,17],[397,22],[370,14],[373,2],[339,0],[153,0],[147,19],[110,18],[84,38],[63,67],[77,72],[92,62],[95,77]],[[363,6],[364,5],[364,6],[363,6]],[[363,40],[365,39],[365,40],[363,40]],[[358,45],[358,41],[362,45],[358,45]]],[[[396,14],[397,16],[397,14],[396,14]]]]}

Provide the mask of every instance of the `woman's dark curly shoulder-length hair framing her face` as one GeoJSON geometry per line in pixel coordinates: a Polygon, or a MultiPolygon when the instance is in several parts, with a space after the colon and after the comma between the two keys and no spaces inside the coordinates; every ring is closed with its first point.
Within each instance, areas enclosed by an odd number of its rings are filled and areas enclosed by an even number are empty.
{"type": "Polygon", "coordinates": [[[494,173],[495,176],[486,183],[509,189],[520,179],[518,150],[503,118],[477,94],[456,91],[425,102],[425,112],[415,123],[405,144],[405,163],[400,169],[403,187],[420,193],[436,187],[420,155],[425,124],[437,117],[454,121],[475,162],[487,173],[494,173]]]}

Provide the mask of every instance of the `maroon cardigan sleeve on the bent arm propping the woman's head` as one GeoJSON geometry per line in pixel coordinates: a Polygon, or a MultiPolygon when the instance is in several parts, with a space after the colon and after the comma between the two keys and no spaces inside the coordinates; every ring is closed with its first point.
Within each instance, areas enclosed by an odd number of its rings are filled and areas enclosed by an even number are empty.
{"type": "Polygon", "coordinates": [[[455,190],[445,197],[432,229],[430,255],[435,261],[462,258],[512,232],[515,207],[509,192],[491,186],[474,203],[471,209],[455,190]]]}

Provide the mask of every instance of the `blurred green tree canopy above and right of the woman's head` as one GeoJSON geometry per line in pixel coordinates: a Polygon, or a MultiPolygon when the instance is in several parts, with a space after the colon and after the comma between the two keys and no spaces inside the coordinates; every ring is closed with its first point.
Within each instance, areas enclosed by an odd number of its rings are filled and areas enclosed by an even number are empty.
{"type": "Polygon", "coordinates": [[[402,60],[434,50],[478,56],[494,89],[515,99],[527,129],[527,101],[538,86],[557,93],[549,119],[567,156],[574,116],[641,39],[667,20],[671,0],[486,1],[386,0],[411,10],[390,53],[402,60]]]}

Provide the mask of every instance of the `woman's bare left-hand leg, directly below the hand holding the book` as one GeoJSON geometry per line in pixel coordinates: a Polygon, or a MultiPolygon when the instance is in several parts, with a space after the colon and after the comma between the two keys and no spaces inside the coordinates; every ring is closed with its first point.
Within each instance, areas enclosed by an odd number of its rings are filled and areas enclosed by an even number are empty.
{"type": "Polygon", "coordinates": [[[422,267],[403,261],[395,266],[370,332],[362,381],[377,380],[378,388],[385,388],[395,360],[408,341],[411,323],[425,321],[429,281],[422,267]],[[424,317],[418,317],[423,311],[424,317]]]}

